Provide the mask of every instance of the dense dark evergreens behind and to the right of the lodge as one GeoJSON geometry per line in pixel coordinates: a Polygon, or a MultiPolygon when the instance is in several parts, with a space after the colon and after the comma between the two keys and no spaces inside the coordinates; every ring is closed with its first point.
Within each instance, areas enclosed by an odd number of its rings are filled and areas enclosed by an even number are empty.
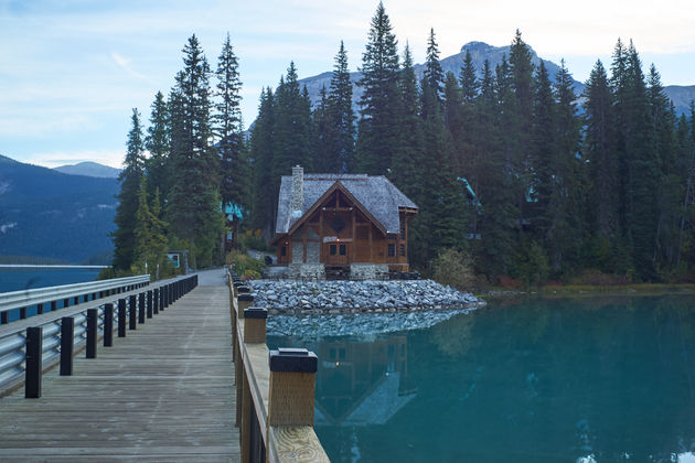
{"type": "Polygon", "coordinates": [[[458,73],[445,73],[430,31],[418,79],[379,6],[355,126],[342,47],[313,110],[293,64],[261,93],[250,138],[254,225],[272,229],[279,175],[299,163],[388,176],[420,207],[410,256],[424,270],[456,247],[492,282],[587,271],[692,279],[693,107],[676,116],[659,72],[644,74],[631,42],[617,43],[608,69],[596,63],[580,95],[564,62],[552,77],[533,58],[517,31],[499,65],[479,69],[467,54],[458,73]]]}

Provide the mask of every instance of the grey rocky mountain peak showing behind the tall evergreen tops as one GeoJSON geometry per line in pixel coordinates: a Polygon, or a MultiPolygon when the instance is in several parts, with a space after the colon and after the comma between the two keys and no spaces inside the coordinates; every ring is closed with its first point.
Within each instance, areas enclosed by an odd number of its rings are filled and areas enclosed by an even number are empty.
{"type": "MultiPolygon", "coordinates": [[[[490,68],[494,72],[494,67],[502,63],[502,57],[510,56],[510,47],[511,45],[505,46],[493,46],[489,45],[484,42],[469,42],[461,47],[461,52],[456,55],[447,56],[440,60],[441,67],[445,73],[451,72],[453,75],[459,77],[461,73],[461,67],[463,66],[463,61],[466,58],[466,52],[470,52],[471,58],[473,61],[473,65],[475,66],[475,71],[478,77],[482,75],[483,64],[485,60],[490,62],[490,68]]],[[[555,75],[559,71],[559,66],[552,61],[541,58],[536,52],[528,46],[531,52],[531,57],[534,65],[537,67],[539,62],[543,61],[546,69],[548,71],[548,75],[552,80],[555,79],[555,75]]],[[[423,73],[425,71],[424,64],[416,64],[415,73],[417,78],[420,79],[423,77],[423,73]]],[[[569,69],[571,73],[571,69],[569,69]]],[[[320,100],[320,91],[321,88],[325,87],[328,90],[331,86],[331,72],[321,73],[319,75],[302,78],[299,80],[300,85],[306,85],[307,90],[309,91],[309,97],[311,98],[312,105],[316,107],[320,100]]],[[[356,83],[362,78],[362,73],[355,72],[350,73],[350,80],[353,84],[353,109],[355,114],[359,114],[357,101],[360,101],[360,97],[362,96],[362,88],[356,86],[356,83]]],[[[579,80],[574,82],[574,88],[577,96],[580,96],[584,91],[585,85],[579,80]]],[[[695,85],[691,86],[678,86],[678,85],[669,85],[664,87],[664,91],[669,98],[673,101],[676,108],[676,114],[687,112],[689,111],[689,104],[693,99],[695,99],[695,85]]]]}

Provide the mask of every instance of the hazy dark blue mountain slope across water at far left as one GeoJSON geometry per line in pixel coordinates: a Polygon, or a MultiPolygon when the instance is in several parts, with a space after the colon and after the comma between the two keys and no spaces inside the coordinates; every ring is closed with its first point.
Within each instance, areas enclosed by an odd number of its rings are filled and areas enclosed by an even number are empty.
{"type": "Polygon", "coordinates": [[[0,256],[110,263],[118,192],[115,179],[68,175],[0,155],[0,256]]]}

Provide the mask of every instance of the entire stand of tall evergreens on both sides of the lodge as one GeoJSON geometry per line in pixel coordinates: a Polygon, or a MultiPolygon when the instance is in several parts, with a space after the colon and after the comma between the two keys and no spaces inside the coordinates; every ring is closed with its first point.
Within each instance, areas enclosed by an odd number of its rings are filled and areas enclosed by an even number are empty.
{"type": "Polygon", "coordinates": [[[534,65],[520,31],[500,65],[477,69],[467,55],[455,75],[430,30],[418,79],[379,3],[356,112],[342,42],[334,63],[316,105],[289,63],[245,132],[229,36],[214,69],[190,37],[147,129],[132,112],[114,268],[152,265],[167,248],[190,249],[197,267],[221,262],[220,204],[269,240],[280,176],[300,164],[388,177],[419,206],[409,256],[424,273],[456,249],[491,284],[695,280],[695,104],[677,115],[631,41],[576,95],[565,63],[556,75],[534,65]]]}

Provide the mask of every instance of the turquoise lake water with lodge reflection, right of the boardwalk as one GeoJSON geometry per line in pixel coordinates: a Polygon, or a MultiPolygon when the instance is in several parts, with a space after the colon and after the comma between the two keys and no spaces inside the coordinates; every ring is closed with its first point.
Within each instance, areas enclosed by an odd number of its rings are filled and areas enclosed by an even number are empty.
{"type": "Polygon", "coordinates": [[[491,302],[427,330],[268,344],[319,356],[333,462],[695,462],[695,297],[491,302]]]}

